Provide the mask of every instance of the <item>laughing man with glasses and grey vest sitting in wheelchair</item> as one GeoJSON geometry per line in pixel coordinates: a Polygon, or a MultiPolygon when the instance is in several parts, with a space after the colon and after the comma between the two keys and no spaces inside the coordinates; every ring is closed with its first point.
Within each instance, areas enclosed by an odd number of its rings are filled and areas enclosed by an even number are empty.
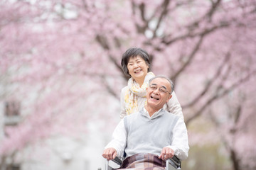
{"type": "MultiPolygon", "coordinates": [[[[157,159],[163,162],[174,155],[186,159],[189,149],[186,125],[181,118],[163,109],[171,99],[172,91],[174,84],[170,79],[163,76],[152,78],[146,89],[146,105],[120,121],[102,156],[107,160],[122,158],[125,152],[127,159],[140,153],[157,155],[157,159]]],[[[129,164],[137,158],[130,159],[129,164]]],[[[129,165],[122,168],[129,168],[129,165]]]]}

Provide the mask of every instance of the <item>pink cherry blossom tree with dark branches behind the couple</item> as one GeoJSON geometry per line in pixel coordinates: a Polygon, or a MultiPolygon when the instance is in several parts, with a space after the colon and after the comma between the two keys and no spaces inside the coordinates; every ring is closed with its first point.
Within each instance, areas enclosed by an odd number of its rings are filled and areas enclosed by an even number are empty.
{"type": "Polygon", "coordinates": [[[18,98],[24,115],[6,128],[2,155],[117,120],[128,79],[121,56],[135,46],[176,84],[191,143],[214,136],[233,169],[255,169],[255,1],[5,0],[0,8],[1,84],[15,91],[1,101],[18,98]],[[190,129],[200,118],[213,126],[203,137],[190,129]]]}

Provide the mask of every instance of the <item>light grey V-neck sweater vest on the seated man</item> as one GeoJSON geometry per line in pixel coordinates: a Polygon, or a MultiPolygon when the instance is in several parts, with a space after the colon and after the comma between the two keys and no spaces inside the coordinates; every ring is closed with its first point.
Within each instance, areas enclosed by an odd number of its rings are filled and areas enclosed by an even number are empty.
{"type": "Polygon", "coordinates": [[[124,117],[124,128],[127,131],[127,146],[124,151],[127,157],[138,153],[160,155],[163,147],[171,145],[174,126],[178,116],[164,111],[156,118],[149,119],[140,112],[124,117]]]}

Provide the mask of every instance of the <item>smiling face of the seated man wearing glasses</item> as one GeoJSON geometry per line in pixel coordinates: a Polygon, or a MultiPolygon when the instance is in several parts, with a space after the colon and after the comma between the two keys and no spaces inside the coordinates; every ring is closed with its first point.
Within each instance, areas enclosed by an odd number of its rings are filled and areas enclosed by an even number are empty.
{"type": "Polygon", "coordinates": [[[146,89],[147,105],[159,110],[171,98],[171,94],[167,92],[171,91],[171,84],[164,78],[156,78],[150,82],[150,85],[156,85],[158,88],[156,90],[152,90],[150,87],[146,89]],[[166,89],[166,92],[159,91],[159,88],[166,89]]]}

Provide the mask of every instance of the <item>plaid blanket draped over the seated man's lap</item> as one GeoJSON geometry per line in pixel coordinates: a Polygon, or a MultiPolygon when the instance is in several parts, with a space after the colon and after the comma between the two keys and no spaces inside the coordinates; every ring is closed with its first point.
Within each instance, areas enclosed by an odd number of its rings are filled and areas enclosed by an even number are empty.
{"type": "Polygon", "coordinates": [[[165,166],[166,162],[156,154],[134,154],[124,159],[119,170],[164,170],[165,166]]]}

